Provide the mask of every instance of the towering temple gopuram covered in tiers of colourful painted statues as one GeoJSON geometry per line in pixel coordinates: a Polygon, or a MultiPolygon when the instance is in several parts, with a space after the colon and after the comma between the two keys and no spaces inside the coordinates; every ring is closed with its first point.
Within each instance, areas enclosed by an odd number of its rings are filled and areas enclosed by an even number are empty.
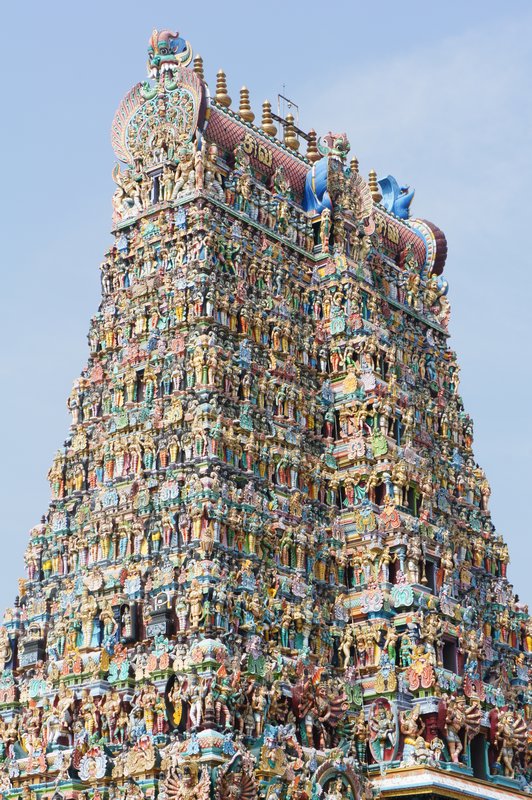
{"type": "Polygon", "coordinates": [[[6,800],[530,792],[532,625],[413,192],[154,31],[0,628],[6,800]],[[305,151],[303,154],[302,151],[305,151]]]}

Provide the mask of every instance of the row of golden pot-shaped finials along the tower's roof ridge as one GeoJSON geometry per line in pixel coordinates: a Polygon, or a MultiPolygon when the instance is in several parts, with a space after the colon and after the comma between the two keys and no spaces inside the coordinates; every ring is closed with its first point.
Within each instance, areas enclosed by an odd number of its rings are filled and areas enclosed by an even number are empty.
{"type": "MultiPolygon", "coordinates": [[[[204,81],[205,76],[203,73],[203,59],[200,55],[194,57],[194,65],[193,65],[194,72],[198,75],[198,77],[204,81]]],[[[227,78],[223,69],[218,70],[216,75],[216,93],[214,95],[214,99],[216,103],[224,108],[229,108],[231,105],[231,98],[227,93],[227,78]]],[[[252,123],[255,119],[255,114],[251,109],[251,104],[249,102],[249,89],[246,86],[243,86],[240,90],[240,103],[238,107],[238,116],[244,120],[244,122],[252,123]]],[[[262,119],[260,128],[266,133],[268,136],[275,137],[277,135],[277,128],[274,125],[273,116],[272,116],[272,104],[269,100],[265,100],[262,104],[262,119]]],[[[283,141],[284,144],[290,148],[290,150],[298,150],[299,149],[299,138],[297,135],[296,127],[295,127],[295,120],[293,114],[287,114],[285,117],[285,122],[283,125],[284,128],[284,135],[283,141]]],[[[318,150],[318,139],[316,135],[316,131],[311,128],[311,130],[307,134],[307,152],[306,152],[307,160],[313,164],[315,161],[318,161],[321,158],[321,154],[318,150]]],[[[351,172],[358,173],[358,160],[356,158],[351,159],[351,172]]],[[[375,170],[370,170],[369,173],[369,181],[368,186],[371,191],[371,195],[375,202],[379,202],[382,200],[382,194],[380,192],[380,187],[377,182],[377,173],[375,170]]]]}

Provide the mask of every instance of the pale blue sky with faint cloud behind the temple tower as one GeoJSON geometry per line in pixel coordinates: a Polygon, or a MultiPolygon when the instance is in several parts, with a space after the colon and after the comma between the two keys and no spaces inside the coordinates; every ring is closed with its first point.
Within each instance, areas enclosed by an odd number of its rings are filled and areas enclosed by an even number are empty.
{"type": "Polygon", "coordinates": [[[109,129],[154,27],[192,43],[211,88],[220,67],[234,100],[248,86],[256,114],[282,92],[303,128],[345,130],[361,171],[415,187],[413,214],[445,231],[475,454],[532,605],[530,0],[29,0],[1,21],[0,611],[67,435],[110,242],[109,129]]]}

